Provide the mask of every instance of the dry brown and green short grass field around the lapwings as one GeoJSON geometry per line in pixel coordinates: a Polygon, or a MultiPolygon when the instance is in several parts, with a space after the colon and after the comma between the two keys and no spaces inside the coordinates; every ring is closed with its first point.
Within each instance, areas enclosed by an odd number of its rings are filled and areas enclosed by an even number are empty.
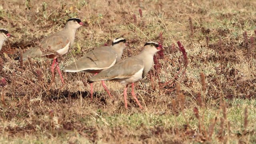
{"type": "Polygon", "coordinates": [[[0,28],[15,36],[0,51],[1,144],[256,143],[255,0],[2,0],[0,28]],[[14,60],[72,17],[84,26],[61,70],[120,36],[122,59],[166,49],[135,84],[142,110],[130,86],[125,109],[122,84],[106,82],[110,98],[95,82],[91,100],[92,74],[62,85],[52,59],[14,60]]]}

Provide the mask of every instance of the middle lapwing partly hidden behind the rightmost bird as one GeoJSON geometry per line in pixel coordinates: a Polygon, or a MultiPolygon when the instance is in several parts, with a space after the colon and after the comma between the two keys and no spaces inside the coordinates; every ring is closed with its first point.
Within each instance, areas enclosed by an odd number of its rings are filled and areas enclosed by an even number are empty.
{"type": "MultiPolygon", "coordinates": [[[[115,38],[112,42],[112,46],[102,46],[91,50],[85,54],[82,58],[76,62],[68,65],[63,71],[64,72],[80,72],[86,71],[98,74],[102,70],[106,70],[121,59],[123,50],[125,49],[126,40],[124,38],[115,38]]],[[[93,94],[92,84],[91,86],[91,99],[93,94]]],[[[108,95],[112,98],[106,84],[102,80],[102,86],[107,91],[108,95]]]]}

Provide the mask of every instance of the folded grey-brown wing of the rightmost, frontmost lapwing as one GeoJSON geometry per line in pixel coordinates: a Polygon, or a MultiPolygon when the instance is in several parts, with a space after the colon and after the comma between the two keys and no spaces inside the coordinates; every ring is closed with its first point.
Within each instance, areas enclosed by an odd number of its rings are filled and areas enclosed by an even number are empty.
{"type": "Polygon", "coordinates": [[[137,72],[144,68],[143,61],[138,58],[127,58],[121,62],[118,62],[109,69],[103,70],[99,74],[93,76],[89,81],[98,80],[114,80],[125,79],[134,76],[137,72]]]}

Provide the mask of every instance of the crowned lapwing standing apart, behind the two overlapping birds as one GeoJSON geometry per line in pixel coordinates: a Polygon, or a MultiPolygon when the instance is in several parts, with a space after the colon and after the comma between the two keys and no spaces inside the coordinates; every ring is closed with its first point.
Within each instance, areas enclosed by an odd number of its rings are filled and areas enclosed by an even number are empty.
{"type": "MultiPolygon", "coordinates": [[[[39,46],[35,46],[34,48],[27,50],[22,56],[23,60],[28,59],[28,57],[35,58],[42,56],[45,56],[47,58],[53,58],[53,63],[51,67],[52,74],[54,75],[54,66],[56,64],[56,68],[58,70],[58,73],[60,74],[61,81],[64,84],[57,58],[59,57],[59,55],[62,56],[68,52],[68,49],[74,43],[76,29],[80,28],[83,25],[84,24],[79,18],[68,19],[68,22],[66,23],[66,26],[63,30],[44,38],[40,42],[39,46]]],[[[20,56],[14,58],[14,60],[19,59],[20,56]]]]}

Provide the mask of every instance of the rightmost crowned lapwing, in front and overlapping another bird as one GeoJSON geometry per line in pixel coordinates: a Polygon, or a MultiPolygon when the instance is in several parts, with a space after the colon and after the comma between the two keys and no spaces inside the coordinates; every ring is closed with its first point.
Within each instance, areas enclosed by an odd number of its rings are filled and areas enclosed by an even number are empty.
{"type": "Polygon", "coordinates": [[[111,68],[103,70],[96,76],[89,78],[88,82],[114,80],[121,84],[126,84],[126,87],[124,88],[125,108],[127,108],[127,88],[129,84],[132,84],[132,96],[142,109],[142,106],[134,93],[134,82],[138,82],[146,76],[153,65],[154,54],[160,50],[164,50],[164,48],[158,47],[158,43],[147,42],[140,54],[122,60],[111,68]]]}

